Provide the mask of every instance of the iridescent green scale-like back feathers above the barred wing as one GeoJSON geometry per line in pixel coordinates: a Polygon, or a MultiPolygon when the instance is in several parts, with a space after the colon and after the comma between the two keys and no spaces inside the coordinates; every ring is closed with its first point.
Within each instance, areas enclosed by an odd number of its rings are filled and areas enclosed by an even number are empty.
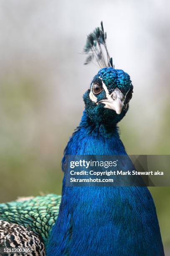
{"type": "Polygon", "coordinates": [[[24,201],[0,204],[0,219],[23,225],[41,237],[44,244],[55,223],[61,196],[48,194],[24,201]]]}

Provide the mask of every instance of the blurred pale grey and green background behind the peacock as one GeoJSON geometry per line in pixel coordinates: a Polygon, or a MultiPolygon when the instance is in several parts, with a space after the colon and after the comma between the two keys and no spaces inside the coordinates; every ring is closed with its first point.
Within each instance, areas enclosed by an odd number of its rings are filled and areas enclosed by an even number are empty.
{"type": "MultiPolygon", "coordinates": [[[[61,193],[63,149],[98,71],[81,53],[101,20],[134,85],[120,123],[128,154],[170,154],[169,10],[167,0],[0,1],[0,202],[61,193]]],[[[170,187],[150,191],[170,255],[170,187]]]]}

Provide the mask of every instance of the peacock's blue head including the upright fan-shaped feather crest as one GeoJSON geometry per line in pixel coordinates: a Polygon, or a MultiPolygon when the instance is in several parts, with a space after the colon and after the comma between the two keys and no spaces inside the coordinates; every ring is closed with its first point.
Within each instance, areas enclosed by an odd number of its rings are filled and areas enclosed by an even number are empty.
{"type": "Polygon", "coordinates": [[[127,113],[133,85],[126,72],[114,68],[107,51],[106,38],[102,22],[101,28],[95,28],[87,36],[84,53],[88,56],[84,64],[96,59],[102,68],[94,76],[83,98],[86,113],[92,123],[109,125],[117,124],[127,113]]]}

